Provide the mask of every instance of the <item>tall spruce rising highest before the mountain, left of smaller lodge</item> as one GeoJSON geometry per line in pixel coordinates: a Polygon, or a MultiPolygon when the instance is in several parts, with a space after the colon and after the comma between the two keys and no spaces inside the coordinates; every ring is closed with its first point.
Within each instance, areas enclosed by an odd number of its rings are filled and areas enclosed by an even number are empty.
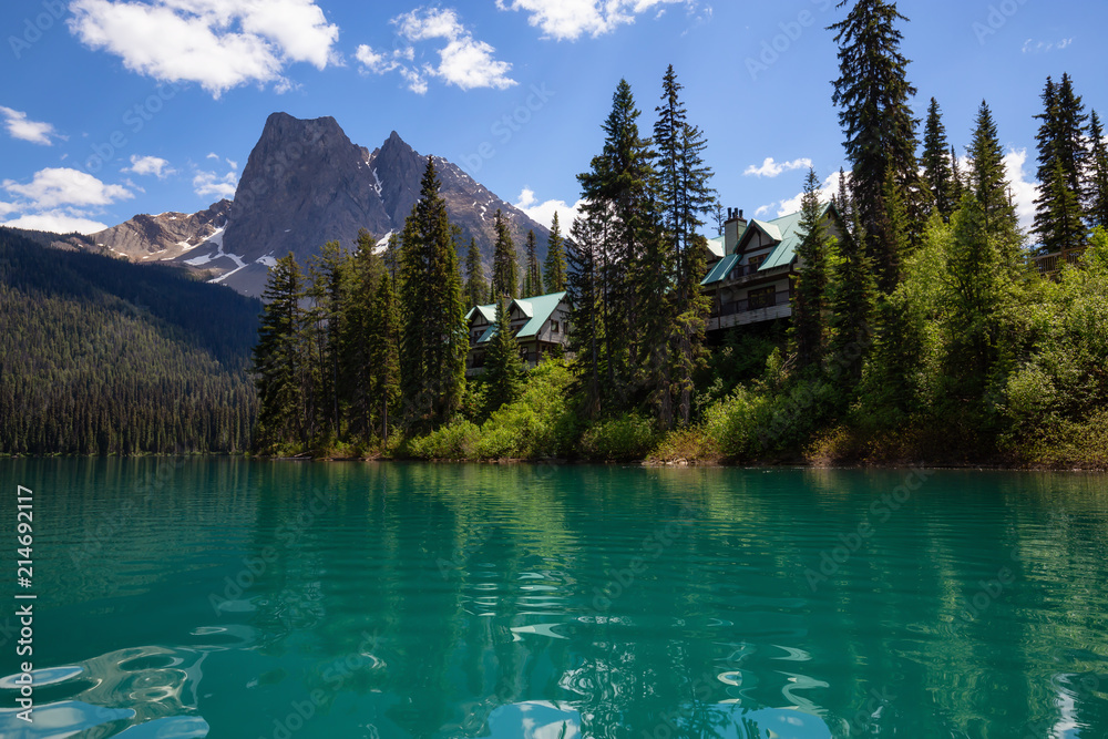
{"type": "Polygon", "coordinates": [[[428,157],[401,252],[400,378],[408,420],[420,430],[448,421],[461,404],[469,349],[458,253],[440,186],[434,157],[428,157]]]}

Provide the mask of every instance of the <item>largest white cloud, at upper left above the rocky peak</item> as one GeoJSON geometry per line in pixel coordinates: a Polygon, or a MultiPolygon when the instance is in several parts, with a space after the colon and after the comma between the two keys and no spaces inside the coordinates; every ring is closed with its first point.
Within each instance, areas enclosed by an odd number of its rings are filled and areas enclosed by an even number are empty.
{"type": "Polygon", "coordinates": [[[248,82],[291,83],[287,64],[337,63],[339,29],[314,0],[74,0],[70,31],[133,72],[197,82],[218,97],[248,82]]]}

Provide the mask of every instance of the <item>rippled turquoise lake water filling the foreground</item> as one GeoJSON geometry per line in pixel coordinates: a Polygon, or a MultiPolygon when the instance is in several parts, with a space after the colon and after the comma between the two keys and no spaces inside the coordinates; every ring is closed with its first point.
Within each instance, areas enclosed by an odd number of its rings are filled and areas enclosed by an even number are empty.
{"type": "Polygon", "coordinates": [[[3,737],[1108,737],[1105,476],[165,459],[0,480],[3,737]]]}

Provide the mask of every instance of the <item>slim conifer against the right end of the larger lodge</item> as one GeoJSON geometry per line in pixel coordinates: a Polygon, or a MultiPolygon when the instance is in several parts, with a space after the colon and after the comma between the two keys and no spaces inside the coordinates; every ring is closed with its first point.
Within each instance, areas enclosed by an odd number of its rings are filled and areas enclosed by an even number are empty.
{"type": "Polygon", "coordinates": [[[809,170],[804,194],[800,201],[800,230],[804,238],[797,247],[802,267],[797,275],[792,309],[792,343],[801,369],[819,368],[823,363],[823,312],[828,304],[828,234],[820,203],[820,181],[815,170],[809,170]]]}

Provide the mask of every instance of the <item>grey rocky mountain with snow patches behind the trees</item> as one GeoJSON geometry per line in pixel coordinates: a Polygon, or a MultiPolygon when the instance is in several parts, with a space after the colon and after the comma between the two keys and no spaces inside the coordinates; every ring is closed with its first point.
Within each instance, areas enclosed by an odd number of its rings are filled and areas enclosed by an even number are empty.
{"type": "MultiPolygon", "coordinates": [[[[466,244],[476,239],[486,265],[492,264],[497,209],[516,249],[523,253],[527,232],[534,230],[540,259],[545,258],[546,224],[532,220],[451,162],[437,156],[434,164],[451,223],[461,227],[466,244]]],[[[396,132],[370,152],[351,142],[332,117],[274,113],[250,152],[234,202],[220,201],[192,215],[137,215],[55,246],[179,264],[213,283],[260,296],[269,267],[289,252],[304,265],[327,242],[352,248],[362,228],[382,245],[400,233],[419,199],[425,168],[427,156],[396,132]]]]}

